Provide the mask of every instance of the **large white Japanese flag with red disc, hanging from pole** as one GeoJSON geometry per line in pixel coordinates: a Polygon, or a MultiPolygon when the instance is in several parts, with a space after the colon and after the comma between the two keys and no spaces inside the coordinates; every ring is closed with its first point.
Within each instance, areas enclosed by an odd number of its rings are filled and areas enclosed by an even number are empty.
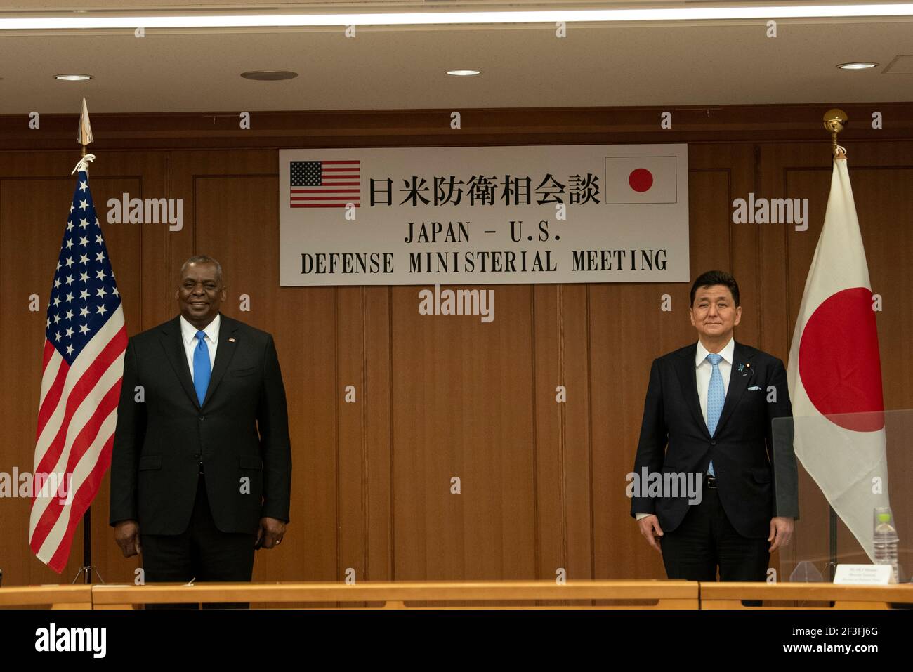
{"type": "Polygon", "coordinates": [[[874,562],[872,511],[888,506],[885,406],[872,288],[845,156],[834,159],[787,378],[796,457],[874,562]]]}

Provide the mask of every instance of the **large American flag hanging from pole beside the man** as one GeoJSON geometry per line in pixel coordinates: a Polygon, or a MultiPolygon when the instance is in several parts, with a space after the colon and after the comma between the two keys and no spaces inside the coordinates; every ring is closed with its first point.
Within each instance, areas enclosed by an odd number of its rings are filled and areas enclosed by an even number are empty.
{"type": "Polygon", "coordinates": [[[121,295],[80,170],[47,304],[28,529],[32,552],[58,573],[110,466],[126,348],[121,295]]]}

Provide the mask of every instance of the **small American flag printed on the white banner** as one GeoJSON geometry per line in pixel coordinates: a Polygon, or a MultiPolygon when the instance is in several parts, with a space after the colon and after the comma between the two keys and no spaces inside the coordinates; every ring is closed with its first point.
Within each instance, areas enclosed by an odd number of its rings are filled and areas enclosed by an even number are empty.
{"type": "Polygon", "coordinates": [[[361,206],[359,161],[292,161],[289,166],[291,207],[361,206]]]}

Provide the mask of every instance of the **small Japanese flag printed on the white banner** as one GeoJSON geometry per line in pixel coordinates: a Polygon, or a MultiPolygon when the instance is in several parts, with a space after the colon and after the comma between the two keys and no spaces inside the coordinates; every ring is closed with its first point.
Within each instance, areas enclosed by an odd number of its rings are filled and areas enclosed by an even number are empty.
{"type": "Polygon", "coordinates": [[[676,176],[675,156],[608,156],[605,202],[677,203],[676,176]]]}

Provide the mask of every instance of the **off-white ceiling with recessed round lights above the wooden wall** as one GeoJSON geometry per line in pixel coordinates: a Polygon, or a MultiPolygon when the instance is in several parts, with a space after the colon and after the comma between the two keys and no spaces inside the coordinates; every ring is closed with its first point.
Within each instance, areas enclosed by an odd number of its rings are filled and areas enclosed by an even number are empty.
{"type": "MultiPolygon", "coordinates": [[[[515,5],[531,5],[520,0],[515,5]]],[[[535,3],[606,6],[612,3],[535,3]]],[[[653,3],[639,3],[650,5],[653,3]]],[[[742,4],[742,3],[740,3],[742,4]]],[[[9,9],[57,10],[64,0],[5,0],[9,9]]],[[[139,0],[79,6],[133,8],[139,0]]],[[[155,3],[156,8],[190,3],[155,3]]],[[[197,9],[213,3],[194,3],[197,9]]],[[[219,5],[254,5],[224,0],[219,5]]],[[[259,3],[324,11],[378,3],[259,3]],[[329,8],[329,9],[328,9],[329,8]]],[[[391,3],[383,3],[390,6],[391,3]]],[[[402,2],[399,8],[454,3],[402,2]]],[[[494,3],[461,2],[459,8],[494,3]]],[[[617,5],[617,3],[615,3],[617,5]]],[[[631,3],[627,3],[631,5],[631,3]]],[[[503,6],[503,4],[498,4],[503,6]]],[[[0,32],[0,114],[89,110],[375,110],[487,107],[677,106],[913,100],[913,21],[793,20],[766,37],[763,22],[696,25],[459,26],[257,29],[83,34],[0,32]],[[903,58],[906,57],[906,58],[903,58]],[[878,68],[845,71],[848,61],[878,68]],[[890,64],[894,63],[893,66],[890,64]],[[890,66],[890,68],[888,68],[890,66]],[[447,69],[482,74],[454,78],[447,69]],[[241,72],[283,69],[286,81],[249,81],[241,72]],[[887,72],[886,72],[887,70],[887,72]],[[54,75],[79,72],[88,82],[54,75]]]]}

